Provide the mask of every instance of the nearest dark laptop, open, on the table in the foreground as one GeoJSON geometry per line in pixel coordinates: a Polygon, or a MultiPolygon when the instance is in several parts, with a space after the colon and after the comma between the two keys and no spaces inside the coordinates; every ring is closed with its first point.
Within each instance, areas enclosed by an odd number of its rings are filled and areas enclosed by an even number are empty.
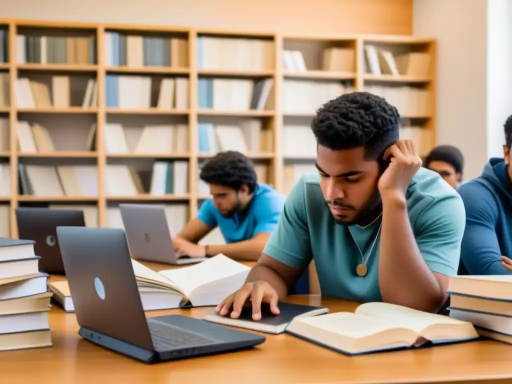
{"type": "Polygon", "coordinates": [[[145,362],[235,351],[265,337],[183,315],[146,318],[122,229],[58,227],[79,335],[145,362]]]}

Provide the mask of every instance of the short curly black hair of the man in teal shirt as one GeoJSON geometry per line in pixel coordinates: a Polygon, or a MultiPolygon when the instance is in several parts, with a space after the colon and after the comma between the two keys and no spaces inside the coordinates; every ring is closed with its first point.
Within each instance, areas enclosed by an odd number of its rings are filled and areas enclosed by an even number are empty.
{"type": "Polygon", "coordinates": [[[319,145],[333,151],[365,147],[376,158],[399,139],[400,114],[380,96],[352,92],[328,101],[316,111],[311,129],[319,145]]]}

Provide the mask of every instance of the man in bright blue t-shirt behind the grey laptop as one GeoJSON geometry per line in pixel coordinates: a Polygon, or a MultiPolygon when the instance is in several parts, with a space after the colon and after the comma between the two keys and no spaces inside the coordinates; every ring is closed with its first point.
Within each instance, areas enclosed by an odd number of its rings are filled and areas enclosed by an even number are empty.
{"type": "Polygon", "coordinates": [[[209,184],[212,198],[203,202],[197,217],[173,239],[176,251],[190,257],[223,253],[236,260],[258,260],[281,216],[284,196],[258,184],[252,162],[235,151],[210,159],[200,178],[209,184]],[[217,226],[227,244],[197,244],[217,226]]]}

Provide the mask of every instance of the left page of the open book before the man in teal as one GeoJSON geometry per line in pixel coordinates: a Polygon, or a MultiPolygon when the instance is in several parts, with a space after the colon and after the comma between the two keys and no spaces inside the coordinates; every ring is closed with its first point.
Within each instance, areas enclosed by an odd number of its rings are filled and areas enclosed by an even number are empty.
{"type": "Polygon", "coordinates": [[[376,333],[398,328],[398,326],[392,321],[351,312],[336,312],[321,316],[302,317],[295,319],[292,322],[301,322],[328,332],[351,338],[367,337],[376,333]]]}

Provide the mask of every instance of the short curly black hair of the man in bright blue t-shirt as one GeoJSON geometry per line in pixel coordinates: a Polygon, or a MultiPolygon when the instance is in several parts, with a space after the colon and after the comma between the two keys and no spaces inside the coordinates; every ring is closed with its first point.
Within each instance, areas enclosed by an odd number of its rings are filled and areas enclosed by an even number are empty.
{"type": "Polygon", "coordinates": [[[237,151],[219,152],[201,169],[201,180],[208,184],[222,185],[238,191],[247,185],[252,194],[257,185],[254,164],[237,151]]]}

